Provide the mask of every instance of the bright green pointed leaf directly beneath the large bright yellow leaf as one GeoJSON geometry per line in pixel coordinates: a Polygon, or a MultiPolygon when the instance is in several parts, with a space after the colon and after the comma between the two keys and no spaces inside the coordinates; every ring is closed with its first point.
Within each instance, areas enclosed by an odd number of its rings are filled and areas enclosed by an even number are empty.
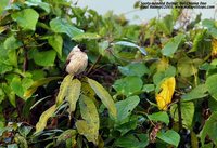
{"type": "Polygon", "coordinates": [[[152,121],[162,121],[166,123],[167,125],[169,123],[169,116],[165,111],[148,115],[148,118],[152,121]]]}

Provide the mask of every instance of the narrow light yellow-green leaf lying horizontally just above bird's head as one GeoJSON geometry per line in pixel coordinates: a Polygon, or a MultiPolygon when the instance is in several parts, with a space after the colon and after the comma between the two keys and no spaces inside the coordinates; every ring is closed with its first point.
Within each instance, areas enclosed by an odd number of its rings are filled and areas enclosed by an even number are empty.
{"type": "Polygon", "coordinates": [[[79,33],[79,35],[73,37],[73,40],[81,41],[84,39],[92,40],[92,39],[100,39],[100,38],[101,37],[98,33],[85,32],[85,33],[79,33]]]}

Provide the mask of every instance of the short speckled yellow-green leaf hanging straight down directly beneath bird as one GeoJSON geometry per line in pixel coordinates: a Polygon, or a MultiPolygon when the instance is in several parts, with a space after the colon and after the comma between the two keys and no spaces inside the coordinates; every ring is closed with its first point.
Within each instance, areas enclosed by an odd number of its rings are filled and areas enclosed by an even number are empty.
{"type": "Polygon", "coordinates": [[[80,88],[81,83],[78,79],[74,79],[67,88],[67,94],[65,99],[69,103],[71,112],[75,111],[76,103],[80,96],[80,88]]]}

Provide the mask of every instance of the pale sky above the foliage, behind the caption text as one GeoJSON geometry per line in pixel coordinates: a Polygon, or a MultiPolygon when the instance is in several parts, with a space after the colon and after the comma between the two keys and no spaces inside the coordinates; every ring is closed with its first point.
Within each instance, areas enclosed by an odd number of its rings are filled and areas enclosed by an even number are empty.
{"type": "MultiPolygon", "coordinates": [[[[169,9],[156,10],[135,10],[133,4],[137,0],[78,0],[78,6],[93,9],[100,14],[105,14],[107,11],[113,11],[115,14],[125,14],[125,16],[133,24],[145,23],[158,14],[164,16],[170,12],[169,9]]],[[[141,0],[142,2],[153,2],[153,0],[141,0]]],[[[173,0],[164,0],[164,2],[173,2],[173,0]]],[[[207,5],[215,5],[215,9],[196,9],[190,12],[195,16],[200,12],[202,18],[217,18],[217,1],[216,0],[191,0],[191,2],[206,2],[207,5]]],[[[189,10],[190,11],[190,10],[189,10]]]]}

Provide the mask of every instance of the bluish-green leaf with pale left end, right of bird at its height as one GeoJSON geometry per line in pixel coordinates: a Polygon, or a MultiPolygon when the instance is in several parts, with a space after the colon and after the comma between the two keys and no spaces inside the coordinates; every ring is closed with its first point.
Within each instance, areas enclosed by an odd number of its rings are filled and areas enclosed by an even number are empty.
{"type": "Polygon", "coordinates": [[[142,77],[148,75],[150,70],[143,63],[131,63],[127,66],[118,66],[118,70],[125,76],[138,76],[142,77]]]}

